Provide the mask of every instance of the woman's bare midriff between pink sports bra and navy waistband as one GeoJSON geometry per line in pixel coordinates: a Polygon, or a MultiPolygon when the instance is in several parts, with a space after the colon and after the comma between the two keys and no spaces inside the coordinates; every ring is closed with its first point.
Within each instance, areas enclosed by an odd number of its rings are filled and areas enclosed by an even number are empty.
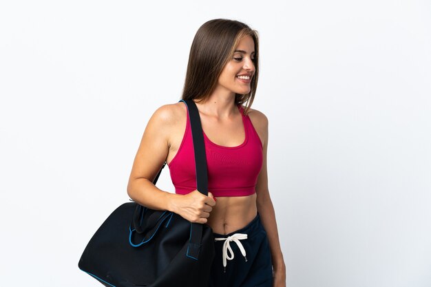
{"type": "Polygon", "coordinates": [[[207,224],[214,233],[228,234],[249,224],[257,215],[256,193],[217,197],[207,224]]]}

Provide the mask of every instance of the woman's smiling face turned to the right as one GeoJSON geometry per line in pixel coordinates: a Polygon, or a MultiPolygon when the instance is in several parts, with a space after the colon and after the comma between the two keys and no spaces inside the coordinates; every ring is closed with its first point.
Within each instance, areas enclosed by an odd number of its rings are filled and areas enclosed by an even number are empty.
{"type": "Polygon", "coordinates": [[[235,47],[232,59],[224,66],[222,74],[218,78],[218,86],[229,90],[229,92],[248,94],[254,73],[254,41],[251,36],[247,35],[235,47]]]}

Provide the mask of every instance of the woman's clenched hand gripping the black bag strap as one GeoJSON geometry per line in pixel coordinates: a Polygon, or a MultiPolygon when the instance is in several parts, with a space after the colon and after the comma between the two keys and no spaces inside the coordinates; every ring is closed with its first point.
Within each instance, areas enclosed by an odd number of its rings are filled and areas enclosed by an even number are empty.
{"type": "Polygon", "coordinates": [[[195,189],[191,193],[179,195],[176,200],[173,200],[173,211],[181,217],[189,220],[189,222],[207,223],[209,213],[215,206],[215,200],[211,192],[208,196],[203,195],[195,189]]]}

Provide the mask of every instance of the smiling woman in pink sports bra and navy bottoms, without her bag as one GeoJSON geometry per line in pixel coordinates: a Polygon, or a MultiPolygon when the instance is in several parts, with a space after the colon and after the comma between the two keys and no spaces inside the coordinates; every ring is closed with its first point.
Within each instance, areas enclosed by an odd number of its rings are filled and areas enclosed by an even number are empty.
{"type": "Polygon", "coordinates": [[[182,101],[159,107],[149,119],[127,186],[138,204],[211,226],[210,286],[286,286],[266,173],[268,119],[250,108],[258,55],[257,32],[239,21],[207,21],[193,39],[182,99],[195,101],[200,114],[208,196],[196,190],[191,128],[182,101]],[[164,162],[176,193],[152,183],[164,162]]]}

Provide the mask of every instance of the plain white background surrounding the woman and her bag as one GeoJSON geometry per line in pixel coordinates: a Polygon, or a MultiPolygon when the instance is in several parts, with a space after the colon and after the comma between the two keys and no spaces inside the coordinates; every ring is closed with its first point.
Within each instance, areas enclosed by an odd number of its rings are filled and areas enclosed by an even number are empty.
{"type": "Polygon", "coordinates": [[[78,259],[215,18],[260,33],[287,286],[431,286],[425,0],[2,1],[1,286],[99,286],[78,259]]]}

